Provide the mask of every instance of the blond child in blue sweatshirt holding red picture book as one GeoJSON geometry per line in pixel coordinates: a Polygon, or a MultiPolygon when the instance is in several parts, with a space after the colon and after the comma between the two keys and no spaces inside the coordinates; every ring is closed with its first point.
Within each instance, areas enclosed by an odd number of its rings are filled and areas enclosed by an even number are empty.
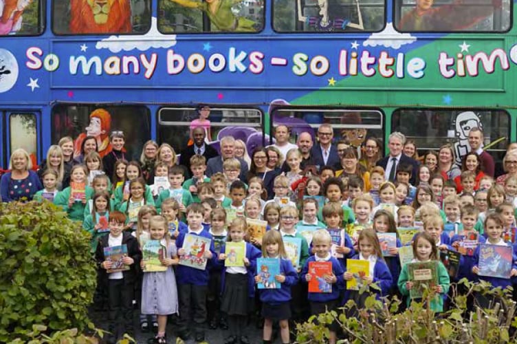
{"type": "MultiPolygon", "coordinates": [[[[325,282],[331,285],[331,292],[309,292],[308,299],[311,314],[320,314],[325,313],[327,310],[336,310],[340,304],[340,290],[344,288],[344,270],[338,259],[332,257],[331,244],[332,239],[327,230],[316,230],[312,237],[312,247],[315,254],[309,257],[303,266],[301,274],[302,281],[309,283],[313,278],[311,273],[309,273],[309,265],[311,265],[311,262],[330,261],[332,264],[332,274],[325,276],[325,282]]],[[[339,325],[334,321],[329,329],[329,343],[336,343],[336,332],[338,329],[339,325]]]]}

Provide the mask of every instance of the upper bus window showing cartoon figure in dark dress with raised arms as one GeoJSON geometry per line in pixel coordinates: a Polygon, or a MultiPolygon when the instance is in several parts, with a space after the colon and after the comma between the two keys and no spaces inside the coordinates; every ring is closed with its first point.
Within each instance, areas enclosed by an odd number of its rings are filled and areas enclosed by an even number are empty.
{"type": "Polygon", "coordinates": [[[354,32],[384,28],[384,0],[274,0],[276,32],[354,32]]]}

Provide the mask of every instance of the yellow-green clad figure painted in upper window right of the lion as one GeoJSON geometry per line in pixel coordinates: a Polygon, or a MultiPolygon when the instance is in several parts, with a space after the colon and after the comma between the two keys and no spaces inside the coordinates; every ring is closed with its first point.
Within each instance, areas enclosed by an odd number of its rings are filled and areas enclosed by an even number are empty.
{"type": "Polygon", "coordinates": [[[210,23],[221,31],[231,32],[256,32],[257,23],[244,18],[237,17],[234,14],[234,6],[243,2],[243,0],[170,0],[187,8],[196,8],[205,12],[210,19],[210,23]]]}

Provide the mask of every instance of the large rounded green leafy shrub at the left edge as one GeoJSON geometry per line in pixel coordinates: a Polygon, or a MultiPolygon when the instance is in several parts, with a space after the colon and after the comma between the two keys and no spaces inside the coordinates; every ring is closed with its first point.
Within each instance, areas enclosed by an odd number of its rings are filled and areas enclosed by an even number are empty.
{"type": "Polygon", "coordinates": [[[50,202],[0,204],[0,342],[93,327],[96,288],[89,234],[50,202]],[[42,327],[41,327],[42,328],[42,327]]]}

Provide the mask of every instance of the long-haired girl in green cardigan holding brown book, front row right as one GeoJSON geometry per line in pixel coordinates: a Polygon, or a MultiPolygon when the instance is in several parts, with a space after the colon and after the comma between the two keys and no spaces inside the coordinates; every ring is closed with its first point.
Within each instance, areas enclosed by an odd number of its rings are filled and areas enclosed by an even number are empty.
{"type": "Polygon", "coordinates": [[[413,257],[411,263],[404,264],[400,272],[398,286],[401,294],[407,297],[408,307],[413,299],[421,300],[423,286],[427,284],[432,289],[434,295],[430,295],[430,308],[434,312],[443,312],[443,298],[447,295],[450,286],[450,279],[447,269],[439,261],[437,244],[434,238],[427,232],[415,235],[412,242],[413,257]],[[426,263],[421,266],[421,270],[430,272],[429,275],[415,274],[419,266],[415,269],[410,264],[426,263]],[[428,264],[431,263],[431,264],[428,264]],[[415,283],[416,281],[416,283],[415,283]],[[413,290],[413,291],[412,291],[413,290]],[[411,297],[410,297],[411,296],[411,297]]]}

